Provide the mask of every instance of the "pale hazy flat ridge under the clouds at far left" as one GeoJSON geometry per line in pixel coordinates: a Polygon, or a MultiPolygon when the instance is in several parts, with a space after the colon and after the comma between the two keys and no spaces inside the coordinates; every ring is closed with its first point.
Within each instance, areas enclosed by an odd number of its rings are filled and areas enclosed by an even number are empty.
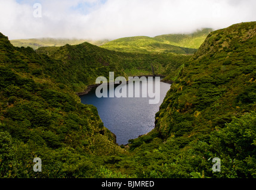
{"type": "Polygon", "coordinates": [[[38,49],[39,47],[49,47],[49,46],[64,46],[78,45],[84,42],[88,42],[97,46],[103,45],[109,40],[88,40],[88,39],[61,39],[61,38],[39,38],[39,39],[16,39],[10,40],[11,44],[16,47],[32,47],[33,49],[38,49]]]}

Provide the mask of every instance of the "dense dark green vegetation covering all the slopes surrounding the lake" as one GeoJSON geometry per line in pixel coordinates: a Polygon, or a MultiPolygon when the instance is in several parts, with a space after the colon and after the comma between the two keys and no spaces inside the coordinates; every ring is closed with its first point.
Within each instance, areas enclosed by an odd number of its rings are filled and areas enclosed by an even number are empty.
{"type": "Polygon", "coordinates": [[[89,43],[35,52],[0,33],[0,177],[256,178],[255,45],[255,22],[211,32],[193,56],[89,43]],[[151,64],[174,83],[155,129],[118,146],[75,93],[109,71],[151,74],[151,64]]]}

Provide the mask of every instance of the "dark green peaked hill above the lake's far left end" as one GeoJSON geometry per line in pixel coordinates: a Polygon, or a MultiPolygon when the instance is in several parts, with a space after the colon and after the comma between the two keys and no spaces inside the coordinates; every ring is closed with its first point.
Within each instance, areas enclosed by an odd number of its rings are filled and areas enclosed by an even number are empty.
{"type": "Polygon", "coordinates": [[[58,62],[58,65],[49,65],[48,69],[57,75],[54,78],[75,91],[82,91],[87,85],[95,84],[99,76],[108,77],[110,71],[125,76],[118,56],[87,42],[74,46],[41,47],[36,53],[50,56],[58,62]]]}

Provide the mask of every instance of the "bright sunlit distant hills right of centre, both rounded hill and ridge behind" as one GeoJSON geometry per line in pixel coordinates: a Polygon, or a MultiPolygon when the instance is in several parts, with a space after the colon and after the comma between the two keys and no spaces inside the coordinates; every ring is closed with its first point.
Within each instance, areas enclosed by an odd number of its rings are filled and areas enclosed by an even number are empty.
{"type": "Polygon", "coordinates": [[[120,52],[173,52],[193,54],[212,29],[198,30],[192,34],[165,34],[156,37],[124,37],[105,43],[101,47],[120,52]]]}

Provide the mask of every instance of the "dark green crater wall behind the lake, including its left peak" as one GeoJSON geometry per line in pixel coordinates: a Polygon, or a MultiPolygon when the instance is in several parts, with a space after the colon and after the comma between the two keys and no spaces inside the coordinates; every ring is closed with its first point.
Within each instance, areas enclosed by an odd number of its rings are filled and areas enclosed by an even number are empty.
{"type": "Polygon", "coordinates": [[[175,71],[189,55],[174,53],[124,53],[104,49],[90,43],[81,45],[65,45],[61,47],[41,47],[36,50],[39,55],[47,55],[58,62],[49,64],[48,68],[62,83],[68,84],[79,92],[87,85],[95,84],[99,76],[109,77],[109,72],[115,76],[165,75],[175,71]]]}

